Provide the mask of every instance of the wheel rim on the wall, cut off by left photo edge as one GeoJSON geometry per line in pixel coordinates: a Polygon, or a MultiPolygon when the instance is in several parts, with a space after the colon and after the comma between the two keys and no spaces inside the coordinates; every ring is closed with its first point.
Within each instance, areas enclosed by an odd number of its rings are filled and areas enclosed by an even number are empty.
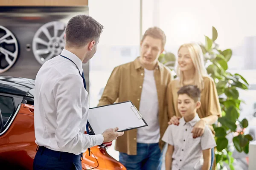
{"type": "Polygon", "coordinates": [[[18,42],[14,34],[0,26],[0,73],[11,68],[19,54],[18,42]]]}

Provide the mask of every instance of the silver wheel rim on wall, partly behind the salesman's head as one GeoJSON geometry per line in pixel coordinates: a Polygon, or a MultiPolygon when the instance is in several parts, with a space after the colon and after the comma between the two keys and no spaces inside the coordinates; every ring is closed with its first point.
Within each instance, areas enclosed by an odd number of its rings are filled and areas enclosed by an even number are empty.
{"type": "Polygon", "coordinates": [[[44,62],[61,54],[64,49],[64,33],[66,24],[53,21],[41,26],[35,33],[32,41],[32,50],[35,59],[43,65],[44,62]]]}

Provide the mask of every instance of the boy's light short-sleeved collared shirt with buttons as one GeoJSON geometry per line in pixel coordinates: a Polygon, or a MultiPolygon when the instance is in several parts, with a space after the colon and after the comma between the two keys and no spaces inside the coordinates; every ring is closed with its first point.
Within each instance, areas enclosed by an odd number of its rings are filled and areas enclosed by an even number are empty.
{"type": "Polygon", "coordinates": [[[189,122],[182,117],[178,126],[169,125],[166,129],[162,140],[174,146],[172,170],[201,170],[204,163],[202,151],[216,146],[208,126],[201,137],[193,139],[191,131],[199,120],[198,114],[189,122]]]}

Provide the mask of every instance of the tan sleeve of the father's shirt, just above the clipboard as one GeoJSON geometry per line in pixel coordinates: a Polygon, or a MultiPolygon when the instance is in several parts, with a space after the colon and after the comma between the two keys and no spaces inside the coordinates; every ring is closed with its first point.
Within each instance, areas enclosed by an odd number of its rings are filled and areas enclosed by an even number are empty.
{"type": "Polygon", "coordinates": [[[120,67],[114,68],[112,71],[107,85],[104,88],[101,99],[99,100],[98,106],[113,104],[119,96],[119,86],[121,80],[121,69],[120,67]]]}

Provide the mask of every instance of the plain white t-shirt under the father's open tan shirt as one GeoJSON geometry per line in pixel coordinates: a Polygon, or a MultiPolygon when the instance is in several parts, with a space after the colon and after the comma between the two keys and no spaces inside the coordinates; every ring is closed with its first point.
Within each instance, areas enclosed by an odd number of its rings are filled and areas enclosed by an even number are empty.
{"type": "Polygon", "coordinates": [[[154,70],[145,70],[142,92],[140,96],[140,113],[148,126],[137,129],[138,143],[158,143],[160,127],[158,120],[157,87],[154,79],[154,70]]]}

